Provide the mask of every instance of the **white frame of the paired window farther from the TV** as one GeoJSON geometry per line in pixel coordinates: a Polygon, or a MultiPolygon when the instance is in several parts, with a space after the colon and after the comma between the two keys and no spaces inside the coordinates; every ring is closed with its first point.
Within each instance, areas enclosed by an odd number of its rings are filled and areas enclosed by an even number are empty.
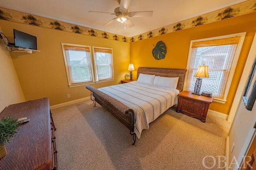
{"type": "Polygon", "coordinates": [[[96,83],[101,83],[101,82],[113,81],[113,80],[114,80],[113,49],[112,49],[112,48],[106,48],[106,47],[96,47],[96,46],[92,46],[92,56],[93,56],[93,61],[94,61],[94,76],[95,76],[95,82],[96,82],[96,83]],[[94,51],[95,48],[111,50],[112,78],[108,78],[108,79],[104,79],[104,80],[99,80],[99,79],[98,79],[98,68],[97,68],[97,62],[96,62],[96,55],[95,55],[95,51],[94,51]]]}

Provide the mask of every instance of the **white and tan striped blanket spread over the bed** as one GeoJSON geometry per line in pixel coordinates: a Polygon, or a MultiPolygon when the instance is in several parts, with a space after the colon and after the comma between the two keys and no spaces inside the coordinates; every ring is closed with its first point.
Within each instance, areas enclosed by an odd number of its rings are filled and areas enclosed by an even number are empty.
{"type": "Polygon", "coordinates": [[[140,138],[143,129],[167,109],[178,103],[179,90],[130,82],[99,88],[101,92],[119,100],[134,110],[134,133],[140,138]]]}

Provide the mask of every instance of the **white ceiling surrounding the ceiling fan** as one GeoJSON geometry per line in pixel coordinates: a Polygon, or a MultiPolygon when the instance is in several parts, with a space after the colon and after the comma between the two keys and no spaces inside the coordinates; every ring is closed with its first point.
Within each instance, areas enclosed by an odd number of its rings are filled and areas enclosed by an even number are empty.
{"type": "Polygon", "coordinates": [[[117,0],[0,0],[0,7],[58,21],[132,37],[246,0],[132,0],[128,12],[154,11],[152,17],[130,18],[129,28],[117,21],[103,26],[116,16],[88,13],[89,10],[114,13],[117,0]],[[119,28],[119,32],[118,32],[119,28]]]}

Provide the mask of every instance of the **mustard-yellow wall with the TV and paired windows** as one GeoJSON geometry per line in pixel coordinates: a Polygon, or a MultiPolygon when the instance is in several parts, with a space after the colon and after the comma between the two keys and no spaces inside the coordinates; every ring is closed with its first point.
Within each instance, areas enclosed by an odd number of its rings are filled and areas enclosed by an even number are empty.
{"type": "Polygon", "coordinates": [[[47,97],[50,99],[50,106],[53,106],[90,96],[90,91],[85,86],[68,87],[61,43],[113,49],[114,80],[91,84],[95,88],[118,84],[128,73],[129,43],[5,20],[0,20],[0,25],[11,42],[14,42],[13,29],[37,37],[40,52],[32,54],[10,52],[26,101],[47,97]],[[70,94],[71,98],[67,98],[67,94],[70,94]]]}

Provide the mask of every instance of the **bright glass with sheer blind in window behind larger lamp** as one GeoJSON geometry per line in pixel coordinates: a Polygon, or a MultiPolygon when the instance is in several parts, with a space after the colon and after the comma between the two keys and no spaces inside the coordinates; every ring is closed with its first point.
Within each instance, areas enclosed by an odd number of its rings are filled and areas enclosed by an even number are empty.
{"type": "MultiPolygon", "coordinates": [[[[212,92],[215,96],[220,92],[224,94],[226,86],[221,85],[228,81],[229,72],[226,69],[230,68],[233,63],[234,57],[230,56],[234,56],[235,50],[234,45],[198,47],[192,50],[192,55],[195,56],[193,75],[199,65],[209,66],[209,78],[203,79],[202,91],[212,92]]],[[[193,88],[194,84],[190,84],[191,91],[193,91],[193,88]]]]}

